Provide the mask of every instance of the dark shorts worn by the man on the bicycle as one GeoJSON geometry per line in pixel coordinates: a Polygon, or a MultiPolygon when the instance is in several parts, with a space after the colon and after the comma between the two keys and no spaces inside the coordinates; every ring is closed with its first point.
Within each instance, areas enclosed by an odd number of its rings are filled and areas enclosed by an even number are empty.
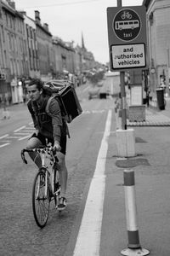
{"type": "MultiPolygon", "coordinates": [[[[52,143],[52,146],[54,146],[54,139],[53,138],[47,138],[44,137],[41,133],[33,133],[31,137],[37,137],[37,139],[42,143],[42,145],[46,146],[48,143],[52,143]]],[[[66,135],[60,137],[60,143],[59,143],[61,150],[60,152],[62,154],[66,154],[66,135]]]]}

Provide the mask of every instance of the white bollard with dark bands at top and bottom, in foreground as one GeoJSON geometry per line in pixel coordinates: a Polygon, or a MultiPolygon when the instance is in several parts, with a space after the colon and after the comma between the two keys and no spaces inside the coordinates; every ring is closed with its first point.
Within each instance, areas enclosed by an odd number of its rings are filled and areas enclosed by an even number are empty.
{"type": "Polygon", "coordinates": [[[150,251],[142,248],[139,243],[139,229],[137,222],[137,207],[135,201],[134,171],[124,170],[125,207],[127,220],[127,248],[122,250],[122,255],[139,256],[148,255],[150,251]]]}

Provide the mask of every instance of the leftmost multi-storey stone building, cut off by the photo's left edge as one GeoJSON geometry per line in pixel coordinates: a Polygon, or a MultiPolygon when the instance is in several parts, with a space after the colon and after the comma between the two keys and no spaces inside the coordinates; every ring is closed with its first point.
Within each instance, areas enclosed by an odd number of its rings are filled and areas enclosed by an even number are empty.
{"type": "Polygon", "coordinates": [[[22,86],[17,78],[28,72],[26,65],[26,34],[24,17],[15,10],[14,2],[2,0],[1,49],[2,62],[0,80],[0,96],[7,103],[22,101],[22,86]]]}

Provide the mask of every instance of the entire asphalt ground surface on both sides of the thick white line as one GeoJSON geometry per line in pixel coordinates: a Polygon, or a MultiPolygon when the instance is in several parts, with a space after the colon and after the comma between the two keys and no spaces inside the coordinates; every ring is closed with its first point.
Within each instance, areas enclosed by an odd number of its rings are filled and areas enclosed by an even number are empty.
{"type": "MultiPolygon", "coordinates": [[[[31,118],[21,104],[10,110],[11,119],[0,120],[0,255],[121,255],[127,247],[122,175],[125,168],[135,171],[142,247],[149,249],[150,255],[169,255],[169,127],[134,127],[136,155],[119,159],[114,100],[88,101],[88,84],[77,92],[83,113],[69,125],[68,207],[59,214],[52,204],[43,230],[37,227],[31,211],[31,186],[37,171],[29,158],[27,166],[20,160],[20,149],[33,131],[31,118]],[[111,131],[105,133],[109,113],[111,131]],[[98,199],[102,203],[96,205],[98,199]],[[94,211],[90,212],[91,204],[94,211]]],[[[169,109],[168,99],[167,109],[161,113],[170,118],[169,109]]]]}

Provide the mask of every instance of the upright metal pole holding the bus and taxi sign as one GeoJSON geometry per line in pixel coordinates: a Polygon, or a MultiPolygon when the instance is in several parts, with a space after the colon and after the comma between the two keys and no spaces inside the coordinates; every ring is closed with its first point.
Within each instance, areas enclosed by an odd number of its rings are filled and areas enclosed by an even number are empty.
{"type": "MultiPolygon", "coordinates": [[[[122,0],[117,0],[117,7],[122,7],[122,0]]],[[[121,81],[121,102],[122,102],[122,130],[127,130],[127,110],[126,110],[126,92],[125,92],[125,73],[120,72],[121,81]]]]}

